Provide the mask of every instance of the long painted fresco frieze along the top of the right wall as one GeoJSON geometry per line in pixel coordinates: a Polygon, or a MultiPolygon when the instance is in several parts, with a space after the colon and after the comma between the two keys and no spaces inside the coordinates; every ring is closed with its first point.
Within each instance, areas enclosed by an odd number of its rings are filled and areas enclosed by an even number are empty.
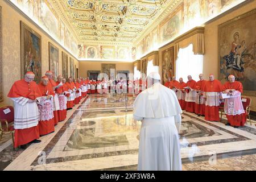
{"type": "Polygon", "coordinates": [[[137,59],[164,46],[188,30],[213,19],[245,0],[183,0],[174,13],[168,15],[136,45],[137,59]],[[156,31],[157,30],[157,31],[156,31]],[[155,32],[159,32],[156,36],[155,32]],[[150,38],[148,38],[150,36],[150,38]],[[155,37],[155,38],[154,38],[155,37]],[[157,38],[158,37],[158,38],[157,38]],[[157,42],[156,42],[157,40],[157,42]]]}

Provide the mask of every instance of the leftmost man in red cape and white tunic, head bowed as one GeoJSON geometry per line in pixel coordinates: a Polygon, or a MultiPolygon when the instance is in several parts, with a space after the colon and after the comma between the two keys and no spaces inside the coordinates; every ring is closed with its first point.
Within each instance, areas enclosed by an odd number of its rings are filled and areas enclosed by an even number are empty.
{"type": "Polygon", "coordinates": [[[22,80],[14,82],[7,97],[14,101],[14,148],[39,143],[39,111],[36,98],[42,94],[35,81],[35,74],[27,72],[22,80]]]}

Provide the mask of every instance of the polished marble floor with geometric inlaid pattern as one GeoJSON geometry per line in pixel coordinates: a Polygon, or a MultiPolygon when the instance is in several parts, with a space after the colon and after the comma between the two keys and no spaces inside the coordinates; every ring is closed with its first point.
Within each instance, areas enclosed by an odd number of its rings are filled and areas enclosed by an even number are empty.
{"type": "MultiPolygon", "coordinates": [[[[41,143],[13,150],[0,142],[1,170],[136,170],[141,122],[133,120],[132,94],[91,94],[68,110],[68,119],[41,143]]],[[[256,170],[256,127],[235,129],[182,114],[183,170],[256,170]]]]}

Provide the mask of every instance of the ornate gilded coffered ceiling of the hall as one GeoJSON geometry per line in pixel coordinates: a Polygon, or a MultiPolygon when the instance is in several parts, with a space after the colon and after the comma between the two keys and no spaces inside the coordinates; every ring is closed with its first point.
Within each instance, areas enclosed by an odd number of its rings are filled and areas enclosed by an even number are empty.
{"type": "MultiPolygon", "coordinates": [[[[175,0],[47,0],[80,43],[131,44],[175,0]]],[[[176,0],[177,1],[177,0],[176,0]]]]}

